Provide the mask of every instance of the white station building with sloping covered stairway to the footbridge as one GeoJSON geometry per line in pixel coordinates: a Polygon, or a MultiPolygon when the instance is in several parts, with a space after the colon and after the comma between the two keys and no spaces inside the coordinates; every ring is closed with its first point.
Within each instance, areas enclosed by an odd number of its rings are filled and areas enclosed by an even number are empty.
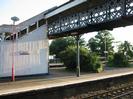
{"type": "Polygon", "coordinates": [[[44,14],[51,10],[15,26],[0,26],[0,77],[12,76],[12,64],[15,76],[48,73],[49,44],[44,14]]]}

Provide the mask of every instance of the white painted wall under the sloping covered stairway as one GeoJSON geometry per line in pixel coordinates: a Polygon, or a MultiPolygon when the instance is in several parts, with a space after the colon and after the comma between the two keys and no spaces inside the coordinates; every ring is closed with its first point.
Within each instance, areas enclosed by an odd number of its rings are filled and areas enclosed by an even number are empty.
{"type": "MultiPolygon", "coordinates": [[[[12,74],[12,42],[0,42],[0,77],[12,74]]],[[[15,75],[48,73],[48,38],[46,26],[28,33],[14,42],[15,75]],[[22,55],[23,52],[29,55],[22,55]]]]}

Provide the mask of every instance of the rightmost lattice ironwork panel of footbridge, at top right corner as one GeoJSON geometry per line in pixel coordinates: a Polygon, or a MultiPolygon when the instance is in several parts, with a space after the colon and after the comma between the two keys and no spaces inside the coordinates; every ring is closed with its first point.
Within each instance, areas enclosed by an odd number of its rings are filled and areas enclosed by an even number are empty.
{"type": "Polygon", "coordinates": [[[133,15],[133,0],[126,0],[126,15],[133,15]]]}

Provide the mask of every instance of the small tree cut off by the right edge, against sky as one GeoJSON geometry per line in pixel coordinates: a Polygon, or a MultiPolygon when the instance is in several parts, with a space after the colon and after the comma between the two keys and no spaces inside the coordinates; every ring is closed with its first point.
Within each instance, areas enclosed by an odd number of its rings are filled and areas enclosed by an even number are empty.
{"type": "Polygon", "coordinates": [[[133,46],[128,41],[124,41],[124,43],[121,43],[118,47],[118,52],[123,53],[128,58],[133,57],[133,46]]]}

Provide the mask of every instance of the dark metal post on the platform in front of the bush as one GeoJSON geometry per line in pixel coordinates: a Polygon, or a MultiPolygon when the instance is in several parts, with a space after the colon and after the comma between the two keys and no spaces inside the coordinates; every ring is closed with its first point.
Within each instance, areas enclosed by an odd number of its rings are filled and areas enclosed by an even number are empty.
{"type": "Polygon", "coordinates": [[[79,35],[77,35],[77,77],[80,76],[80,48],[79,48],[79,35]]]}

